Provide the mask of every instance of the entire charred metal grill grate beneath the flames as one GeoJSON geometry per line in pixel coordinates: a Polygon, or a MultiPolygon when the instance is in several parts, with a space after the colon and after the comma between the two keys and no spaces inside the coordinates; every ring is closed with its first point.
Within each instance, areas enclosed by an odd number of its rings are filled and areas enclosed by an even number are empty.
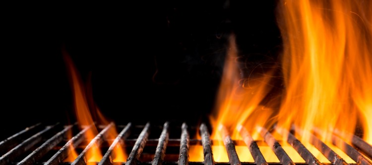
{"type": "MultiPolygon", "coordinates": [[[[105,150],[105,154],[101,160],[100,163],[97,163],[97,165],[284,165],[284,164],[292,164],[292,165],[371,165],[371,161],[369,159],[371,153],[366,151],[371,151],[371,145],[367,146],[361,146],[358,145],[360,142],[364,142],[363,140],[357,136],[354,138],[357,140],[353,140],[353,146],[350,146],[342,141],[340,137],[337,136],[337,132],[334,134],[333,137],[333,143],[337,146],[337,144],[342,145],[348,145],[349,147],[346,147],[345,150],[343,150],[350,158],[352,158],[356,164],[347,164],[340,156],[338,156],[335,152],[333,152],[326,144],[321,142],[319,139],[315,137],[315,135],[311,134],[312,141],[311,144],[313,144],[323,155],[325,155],[325,152],[330,153],[327,157],[327,159],[331,162],[330,164],[324,164],[320,163],[307,149],[306,147],[294,137],[293,132],[284,132],[286,130],[280,129],[278,127],[275,127],[273,131],[278,132],[279,134],[288,134],[289,138],[287,139],[288,143],[292,145],[292,147],[300,154],[301,157],[307,162],[307,163],[293,163],[292,160],[289,158],[290,162],[286,162],[288,159],[283,159],[281,156],[283,154],[287,155],[284,150],[281,149],[281,146],[278,141],[275,140],[275,138],[271,135],[270,131],[266,130],[265,128],[260,128],[261,136],[263,137],[263,141],[254,141],[251,136],[249,135],[248,131],[241,126],[239,128],[239,131],[241,133],[241,136],[243,137],[243,140],[232,140],[227,129],[225,127],[222,127],[222,136],[223,136],[223,142],[227,150],[229,162],[215,162],[213,159],[213,152],[211,146],[217,142],[215,140],[210,139],[208,126],[205,123],[200,124],[198,127],[198,130],[200,131],[201,139],[190,139],[189,128],[184,122],[181,127],[177,127],[177,129],[181,130],[181,134],[179,135],[180,138],[174,138],[170,137],[171,132],[171,125],[169,122],[165,122],[163,126],[155,126],[155,128],[161,128],[162,131],[160,133],[160,137],[157,139],[150,138],[150,130],[151,127],[153,127],[149,122],[146,123],[146,125],[133,125],[132,123],[128,123],[126,125],[120,125],[116,126],[113,122],[104,125],[104,126],[98,126],[102,127],[103,129],[101,132],[92,140],[89,142],[86,147],[84,147],[84,150],[80,152],[80,155],[77,157],[77,159],[74,162],[65,162],[63,163],[62,160],[64,160],[68,154],[69,145],[73,145],[73,147],[77,148],[80,143],[82,143],[84,140],[84,132],[88,129],[92,128],[94,125],[85,126],[82,128],[78,128],[79,132],[72,137],[71,139],[66,138],[66,132],[72,127],[78,127],[78,124],[72,124],[72,125],[66,125],[61,127],[60,123],[54,124],[54,125],[47,125],[45,127],[42,127],[40,123],[32,125],[30,127],[27,127],[24,130],[21,130],[20,132],[14,134],[13,136],[3,140],[0,142],[0,148],[4,147],[10,147],[12,149],[8,149],[8,152],[4,154],[0,158],[0,165],[5,164],[14,164],[14,165],[85,165],[86,164],[86,158],[85,158],[85,152],[89,150],[90,146],[92,146],[94,143],[101,145],[104,141],[111,140],[113,141],[113,144],[111,146],[108,146],[109,148],[105,150]],[[107,139],[105,136],[107,130],[110,127],[116,127],[117,129],[122,129],[121,133],[116,137],[116,139],[107,139]],[[32,135],[30,138],[27,138],[24,142],[20,142],[17,146],[15,146],[16,140],[21,138],[25,138],[25,134],[30,134],[31,131],[37,131],[38,129],[41,129],[41,131],[37,132],[36,134],[32,135]],[[141,133],[136,138],[128,138],[130,137],[131,129],[141,129],[141,133]],[[51,138],[44,137],[45,132],[54,130],[55,134],[51,138]],[[60,148],[58,152],[56,152],[49,161],[39,161],[42,157],[45,156],[45,154],[49,151],[52,151],[53,148],[57,146],[61,141],[61,143],[64,143],[62,140],[62,137],[64,138],[65,144],[63,147],[60,148]],[[44,139],[44,141],[42,141],[44,139]],[[336,143],[338,142],[338,143],[336,143]],[[343,142],[343,143],[339,143],[343,142]],[[358,142],[358,143],[356,143],[358,142]],[[25,157],[22,161],[15,161],[15,157],[18,157],[22,155],[22,151],[26,152],[28,150],[32,150],[32,148],[40,144],[40,147],[33,150],[32,153],[28,154],[27,157],[25,157]],[[274,153],[277,155],[279,161],[281,163],[268,163],[263,158],[258,145],[262,143],[268,144],[271,149],[274,151],[274,153]],[[354,144],[356,143],[356,144],[354,144]],[[27,145],[26,145],[27,144],[27,145]],[[111,152],[115,145],[121,145],[122,147],[125,146],[126,148],[131,147],[131,152],[128,155],[127,162],[124,163],[113,163],[111,160],[111,152]],[[202,145],[203,146],[203,153],[204,153],[204,162],[189,162],[189,146],[190,145],[202,145]],[[238,155],[236,154],[235,146],[236,145],[246,145],[248,149],[250,150],[250,153],[252,153],[253,159],[255,162],[241,162],[238,158],[238,155]],[[154,152],[154,159],[152,161],[146,161],[141,162],[140,157],[143,152],[143,149],[145,146],[156,146],[156,151],[154,152]],[[168,147],[179,147],[179,155],[178,160],[179,161],[164,161],[164,156],[166,154],[166,149],[168,147]],[[17,153],[15,156],[14,153],[17,153]],[[362,154],[363,153],[363,154],[362,154]],[[10,157],[10,156],[11,157],[10,157]],[[369,159],[367,159],[369,158],[369,159]]],[[[195,129],[196,127],[192,127],[192,129],[195,129]]],[[[197,129],[196,129],[197,130],[197,129]]],[[[293,130],[296,132],[302,132],[303,130],[299,129],[296,126],[293,126],[293,130]]],[[[315,134],[319,130],[315,130],[315,134]]],[[[136,136],[135,133],[133,133],[133,136],[136,136]]],[[[26,136],[27,137],[27,136],[26,136]]],[[[367,144],[367,143],[366,143],[367,144]]],[[[341,146],[337,146],[341,147],[341,146]]],[[[34,147],[35,148],[35,147],[34,147]]],[[[288,156],[288,155],[287,155],[288,156]]]]}

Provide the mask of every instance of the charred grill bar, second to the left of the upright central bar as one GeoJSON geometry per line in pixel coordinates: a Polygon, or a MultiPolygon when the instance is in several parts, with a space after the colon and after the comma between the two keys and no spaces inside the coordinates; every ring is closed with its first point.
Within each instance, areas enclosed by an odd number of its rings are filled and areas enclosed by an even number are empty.
{"type": "Polygon", "coordinates": [[[139,134],[137,141],[135,142],[132,151],[130,152],[125,165],[136,165],[139,163],[139,157],[146,145],[148,135],[150,134],[150,123],[146,123],[142,132],[139,134]]]}

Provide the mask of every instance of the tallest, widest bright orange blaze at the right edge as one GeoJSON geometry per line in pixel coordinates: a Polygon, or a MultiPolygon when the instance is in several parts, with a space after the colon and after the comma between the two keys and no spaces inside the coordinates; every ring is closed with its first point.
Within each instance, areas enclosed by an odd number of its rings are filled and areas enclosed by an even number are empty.
{"type": "MultiPolygon", "coordinates": [[[[287,89],[278,116],[281,126],[316,127],[323,130],[321,139],[329,141],[334,129],[354,133],[360,119],[371,143],[371,5],[354,0],[282,1],[278,20],[287,89]]],[[[302,141],[309,138],[302,135],[302,141]]],[[[344,140],[350,143],[351,137],[344,140]]]]}

